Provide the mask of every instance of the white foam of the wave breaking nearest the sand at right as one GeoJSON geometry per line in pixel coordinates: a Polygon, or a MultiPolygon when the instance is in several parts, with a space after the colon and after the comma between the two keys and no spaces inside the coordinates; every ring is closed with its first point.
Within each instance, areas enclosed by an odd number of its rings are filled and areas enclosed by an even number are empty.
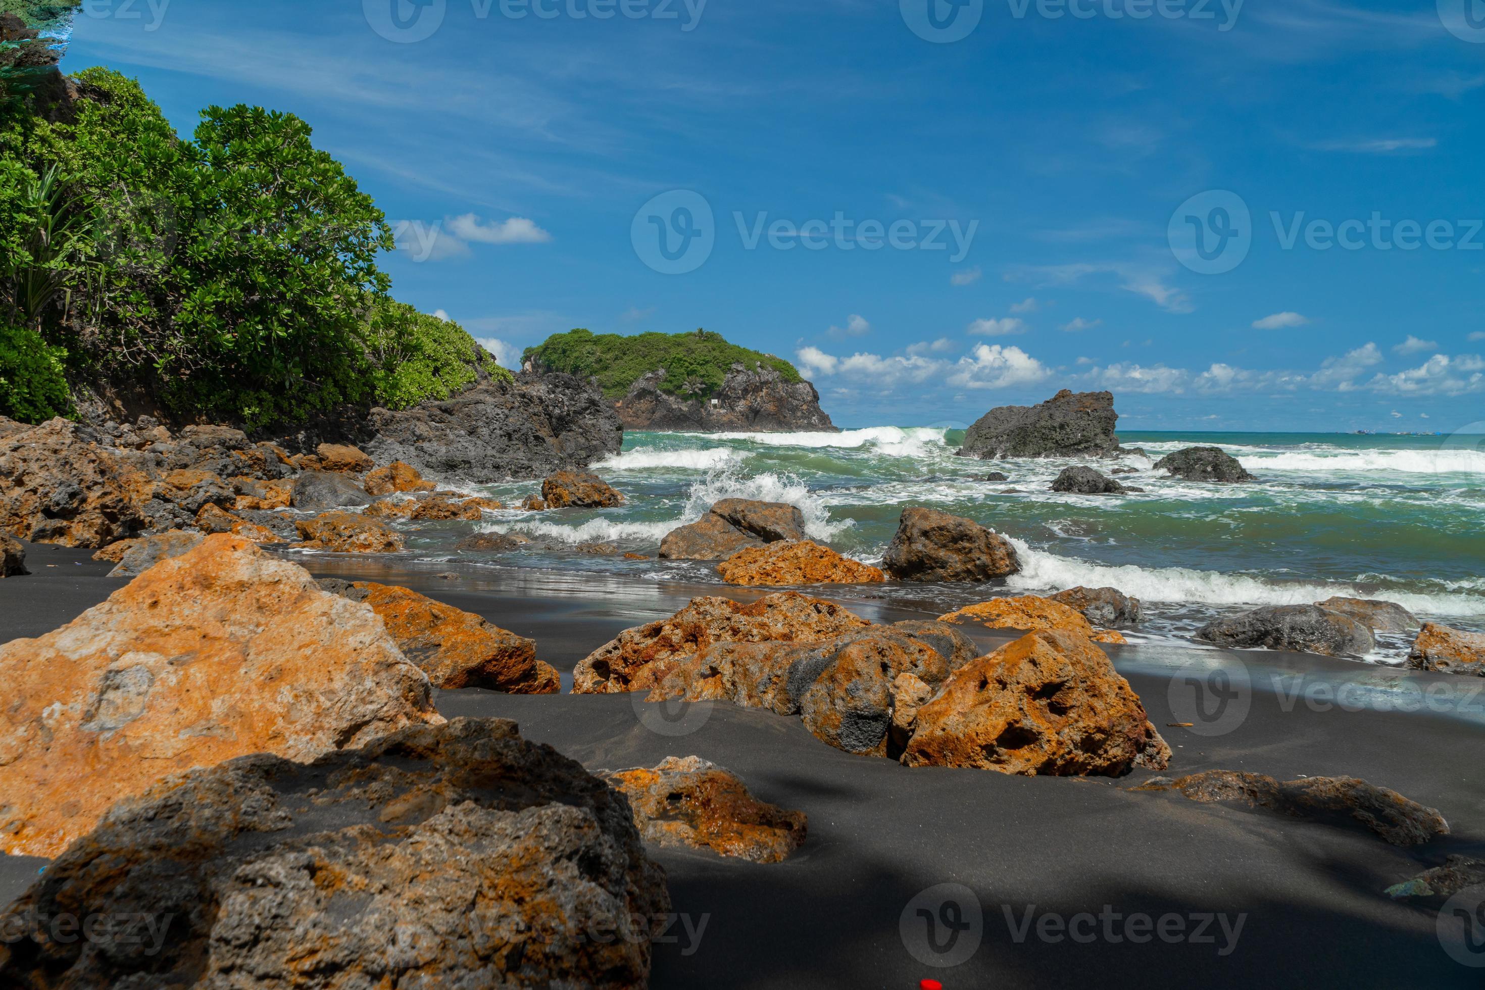
{"type": "MultiPolygon", "coordinates": [[[[1016,591],[1063,591],[1066,588],[1118,588],[1126,595],[1172,604],[1209,606],[1307,606],[1331,597],[1372,597],[1345,583],[1270,583],[1247,574],[1191,570],[1187,567],[1146,568],[1138,564],[1093,564],[1035,551],[1011,537],[1020,555],[1022,571],[1007,579],[1016,591]]],[[[1409,612],[1440,616],[1485,616],[1485,597],[1421,595],[1380,592],[1409,612]]]]}

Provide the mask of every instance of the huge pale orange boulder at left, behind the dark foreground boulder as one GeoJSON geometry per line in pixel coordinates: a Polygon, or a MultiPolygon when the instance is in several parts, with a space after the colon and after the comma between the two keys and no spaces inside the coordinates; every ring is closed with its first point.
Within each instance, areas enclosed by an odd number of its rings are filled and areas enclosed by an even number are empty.
{"type": "Polygon", "coordinates": [[[441,721],[376,613],[235,536],[0,647],[0,683],[24,686],[0,707],[0,850],[33,856],[171,773],[441,721]]]}

